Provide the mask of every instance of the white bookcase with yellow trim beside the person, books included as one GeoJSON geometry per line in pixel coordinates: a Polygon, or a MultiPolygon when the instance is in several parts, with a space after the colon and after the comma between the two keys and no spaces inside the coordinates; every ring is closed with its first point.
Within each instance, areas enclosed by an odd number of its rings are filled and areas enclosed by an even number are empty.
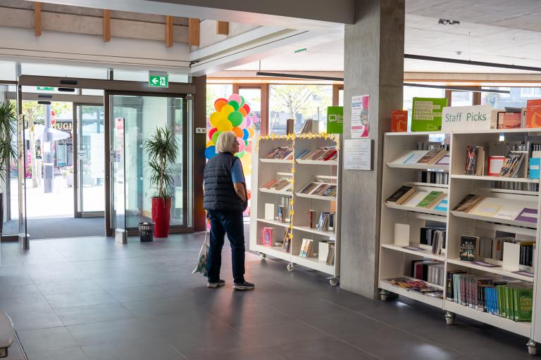
{"type": "Polygon", "coordinates": [[[260,136],[251,169],[249,248],[340,276],[340,138],[297,134],[260,136]],[[280,148],[280,149],[279,149],[280,148]],[[277,150],[279,149],[279,150],[277,150]]]}

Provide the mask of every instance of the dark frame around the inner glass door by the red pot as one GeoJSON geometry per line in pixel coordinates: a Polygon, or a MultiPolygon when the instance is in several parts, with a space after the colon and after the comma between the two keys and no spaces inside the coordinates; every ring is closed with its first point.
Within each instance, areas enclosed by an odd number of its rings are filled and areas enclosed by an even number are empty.
{"type": "MultiPolygon", "coordinates": [[[[191,150],[190,143],[193,140],[189,139],[189,134],[192,133],[192,131],[189,131],[189,128],[191,127],[191,124],[189,124],[190,118],[188,113],[188,105],[187,101],[190,98],[189,93],[173,93],[173,92],[163,92],[163,93],[156,93],[151,91],[117,91],[117,90],[106,90],[104,93],[104,109],[105,109],[105,198],[106,198],[106,207],[105,207],[105,233],[106,236],[113,236],[115,233],[115,229],[111,227],[111,207],[113,205],[113,199],[111,199],[111,186],[113,184],[111,183],[111,96],[113,95],[125,95],[125,96],[156,96],[156,97],[163,97],[163,98],[182,98],[182,115],[183,115],[183,123],[185,126],[182,127],[182,136],[184,137],[184,141],[182,141],[182,191],[185,193],[185,195],[182,197],[183,201],[183,219],[185,219],[186,222],[188,222],[188,212],[194,211],[194,206],[192,203],[192,206],[188,209],[188,188],[189,188],[189,181],[193,179],[193,174],[191,174],[191,177],[189,178],[188,172],[193,172],[193,167],[189,166],[189,160],[188,160],[188,151],[191,150]]],[[[192,160],[193,161],[193,160],[192,160]]],[[[193,214],[192,214],[193,216],[193,214]]],[[[127,236],[137,236],[139,234],[138,229],[132,229],[128,228],[125,229],[127,232],[127,236]]],[[[193,224],[189,224],[187,226],[180,226],[180,225],[172,225],[169,227],[169,233],[191,233],[194,231],[193,224]]]]}

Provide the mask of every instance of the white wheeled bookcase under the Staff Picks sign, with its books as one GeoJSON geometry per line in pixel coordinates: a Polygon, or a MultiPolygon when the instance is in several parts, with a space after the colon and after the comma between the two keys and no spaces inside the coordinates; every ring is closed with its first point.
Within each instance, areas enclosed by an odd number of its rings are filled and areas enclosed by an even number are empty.
{"type": "MultiPolygon", "coordinates": [[[[541,342],[535,246],[541,203],[538,173],[531,179],[534,168],[528,169],[535,154],[528,149],[541,143],[541,130],[454,131],[445,141],[449,165],[407,161],[437,134],[441,139],[443,134],[429,132],[385,134],[381,299],[409,297],[444,310],[449,325],[459,314],[522,335],[529,340],[528,352],[535,354],[541,342]],[[480,158],[472,158],[472,147],[480,158]],[[497,164],[510,151],[524,153],[518,167],[509,170],[515,177],[500,176],[508,171],[498,169],[497,176],[489,176],[489,162],[497,164]],[[447,173],[438,175],[446,181],[431,184],[430,176],[419,174],[424,171],[447,173]],[[444,203],[420,207],[420,199],[433,191],[444,193],[444,203]],[[430,245],[436,233],[444,238],[441,249],[430,245]]],[[[495,174],[494,165],[490,173],[495,174]]]]}

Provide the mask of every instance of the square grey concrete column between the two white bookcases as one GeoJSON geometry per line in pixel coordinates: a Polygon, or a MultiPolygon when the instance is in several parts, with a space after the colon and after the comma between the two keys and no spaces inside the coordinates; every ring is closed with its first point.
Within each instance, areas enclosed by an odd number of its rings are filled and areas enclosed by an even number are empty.
{"type": "Polygon", "coordinates": [[[351,139],[352,96],[370,95],[373,170],[342,173],[340,286],[375,297],[383,134],[392,110],[402,109],[404,0],[355,0],[354,14],[344,37],[344,139],[351,139]]]}

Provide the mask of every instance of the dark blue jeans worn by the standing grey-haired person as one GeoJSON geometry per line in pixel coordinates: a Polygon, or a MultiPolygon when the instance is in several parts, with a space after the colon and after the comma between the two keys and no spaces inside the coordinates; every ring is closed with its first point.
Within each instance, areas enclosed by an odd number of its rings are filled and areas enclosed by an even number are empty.
{"type": "Polygon", "coordinates": [[[227,233],[231,243],[233,281],[244,283],[244,221],[242,212],[208,210],[211,219],[211,241],[206,271],[209,283],[218,283],[222,265],[222,247],[227,233]]]}

